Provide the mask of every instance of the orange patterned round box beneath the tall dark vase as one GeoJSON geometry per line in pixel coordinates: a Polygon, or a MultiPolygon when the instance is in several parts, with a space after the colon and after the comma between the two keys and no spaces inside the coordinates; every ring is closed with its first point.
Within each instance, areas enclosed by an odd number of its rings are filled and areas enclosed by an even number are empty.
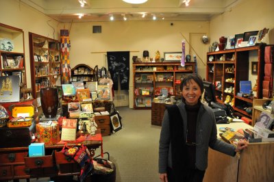
{"type": "Polygon", "coordinates": [[[39,122],[36,124],[37,140],[45,145],[53,145],[60,142],[60,131],[57,121],[39,122]]]}

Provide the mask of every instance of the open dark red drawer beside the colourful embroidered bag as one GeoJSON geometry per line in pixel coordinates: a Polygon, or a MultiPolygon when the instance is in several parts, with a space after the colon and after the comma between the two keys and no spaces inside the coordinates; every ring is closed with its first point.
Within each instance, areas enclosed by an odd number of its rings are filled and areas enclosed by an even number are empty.
{"type": "Polygon", "coordinates": [[[60,173],[80,172],[81,168],[77,162],[67,157],[62,152],[55,151],[55,162],[58,165],[60,173]]]}

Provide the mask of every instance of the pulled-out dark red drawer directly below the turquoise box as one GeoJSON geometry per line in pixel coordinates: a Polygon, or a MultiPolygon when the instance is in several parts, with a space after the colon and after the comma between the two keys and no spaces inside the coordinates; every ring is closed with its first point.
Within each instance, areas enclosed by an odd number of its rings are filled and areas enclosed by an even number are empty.
{"type": "Polygon", "coordinates": [[[25,157],[25,166],[29,169],[53,167],[53,155],[25,157]]]}

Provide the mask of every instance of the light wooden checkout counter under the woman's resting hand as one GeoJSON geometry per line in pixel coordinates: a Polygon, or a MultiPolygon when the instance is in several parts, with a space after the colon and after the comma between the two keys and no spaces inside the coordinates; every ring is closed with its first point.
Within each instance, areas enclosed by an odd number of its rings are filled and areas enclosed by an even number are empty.
{"type": "MultiPolygon", "coordinates": [[[[218,136],[220,127],[238,129],[252,128],[245,122],[217,125],[218,136]]],[[[251,143],[235,157],[225,155],[209,148],[208,169],[203,182],[258,182],[274,179],[274,142],[251,143]]]]}

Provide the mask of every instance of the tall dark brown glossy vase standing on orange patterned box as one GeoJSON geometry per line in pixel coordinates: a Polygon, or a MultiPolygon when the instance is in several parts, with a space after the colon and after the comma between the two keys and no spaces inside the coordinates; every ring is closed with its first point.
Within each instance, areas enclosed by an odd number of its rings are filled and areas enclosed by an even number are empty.
{"type": "Polygon", "coordinates": [[[55,118],[58,110],[58,90],[57,88],[41,88],[42,112],[46,118],[55,118]]]}

